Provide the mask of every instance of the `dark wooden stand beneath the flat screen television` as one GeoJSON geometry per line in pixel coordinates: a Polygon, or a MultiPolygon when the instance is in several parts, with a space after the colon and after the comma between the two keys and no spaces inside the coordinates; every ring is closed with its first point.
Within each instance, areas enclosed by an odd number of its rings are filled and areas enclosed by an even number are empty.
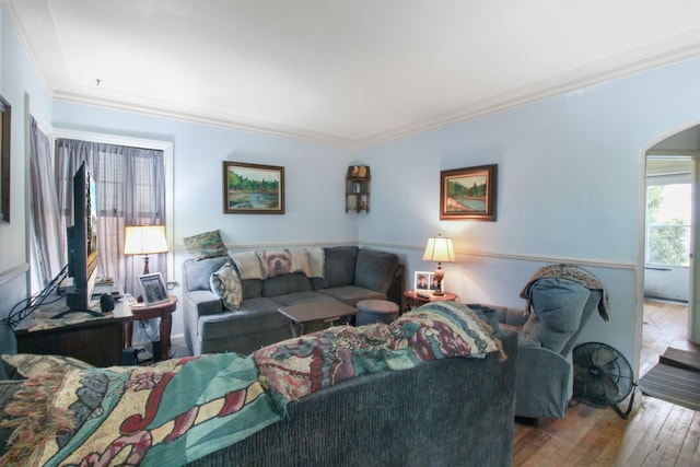
{"type": "Polygon", "coordinates": [[[131,319],[131,310],[124,300],[115,302],[109,313],[96,307],[69,310],[66,297],[37,306],[14,329],[18,353],[56,354],[72,357],[95,366],[121,364],[125,324],[131,319]],[[59,319],[62,315],[65,319],[59,319]]]}

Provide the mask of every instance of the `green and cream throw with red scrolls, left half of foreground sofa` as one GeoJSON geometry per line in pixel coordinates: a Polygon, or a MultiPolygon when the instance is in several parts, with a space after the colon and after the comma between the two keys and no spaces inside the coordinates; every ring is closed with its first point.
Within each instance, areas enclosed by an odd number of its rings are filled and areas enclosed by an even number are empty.
{"type": "Polygon", "coordinates": [[[22,418],[0,465],[37,466],[182,465],[282,417],[232,353],[30,380],[5,411],[22,418]]]}

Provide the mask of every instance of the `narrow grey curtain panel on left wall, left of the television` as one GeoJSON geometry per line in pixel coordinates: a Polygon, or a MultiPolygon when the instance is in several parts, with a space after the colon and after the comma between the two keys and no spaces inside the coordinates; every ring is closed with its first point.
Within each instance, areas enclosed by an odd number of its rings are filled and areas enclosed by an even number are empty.
{"type": "Polygon", "coordinates": [[[32,290],[44,289],[66,265],[65,229],[61,229],[58,198],[48,137],[30,116],[31,264],[32,290]]]}

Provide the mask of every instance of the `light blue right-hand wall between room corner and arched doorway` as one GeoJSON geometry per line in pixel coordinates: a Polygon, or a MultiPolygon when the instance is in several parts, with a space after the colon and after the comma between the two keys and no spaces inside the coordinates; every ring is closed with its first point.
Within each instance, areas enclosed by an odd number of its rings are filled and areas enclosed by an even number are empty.
{"type": "MultiPolygon", "coordinates": [[[[700,121],[698,82],[700,60],[686,61],[368,149],[361,159],[386,176],[360,240],[452,236],[460,262],[444,267],[446,289],[465,302],[522,307],[518,293],[537,268],[583,264],[608,287],[612,318],[593,319],[582,340],[608,342],[632,361],[643,154],[662,135],[700,121]],[[441,222],[440,172],[492,163],[498,222],[441,222]]],[[[411,270],[434,268],[419,247],[402,249],[411,270]]]]}

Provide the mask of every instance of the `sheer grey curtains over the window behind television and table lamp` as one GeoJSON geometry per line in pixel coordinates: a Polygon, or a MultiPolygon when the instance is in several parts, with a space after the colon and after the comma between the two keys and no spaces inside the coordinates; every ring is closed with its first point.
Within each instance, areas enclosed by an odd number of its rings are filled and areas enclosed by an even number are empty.
{"type": "MultiPolygon", "coordinates": [[[[72,223],[73,174],[85,161],[97,196],[97,272],[140,295],[137,277],[141,256],[124,255],[127,225],[165,224],[163,151],[59,139],[56,142],[56,184],[65,226],[72,223]]],[[[166,255],[151,255],[151,272],[166,271],[166,255]]]]}

